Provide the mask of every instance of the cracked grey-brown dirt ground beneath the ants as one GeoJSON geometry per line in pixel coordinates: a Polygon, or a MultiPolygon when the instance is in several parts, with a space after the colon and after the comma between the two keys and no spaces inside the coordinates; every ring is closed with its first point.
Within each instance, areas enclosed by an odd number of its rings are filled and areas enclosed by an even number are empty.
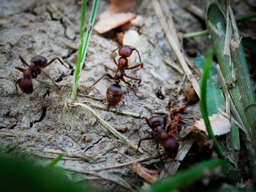
{"type": "MultiPolygon", "coordinates": [[[[80,28],[80,5],[72,0],[50,1],[59,9],[72,24],[52,8],[47,1],[6,1],[0,4],[0,148],[5,152],[21,151],[29,154],[41,164],[48,164],[58,153],[66,151],[68,155],[58,166],[70,170],[72,177],[83,183],[91,180],[99,186],[110,191],[126,191],[139,188],[143,185],[132,166],[121,166],[117,169],[96,171],[106,166],[123,164],[136,159],[157,156],[155,141],[143,142],[143,154],[124,144],[110,133],[91,112],[81,107],[67,107],[72,91],[72,82],[78,52],[65,45],[72,42],[78,45],[80,28]],[[55,61],[45,68],[53,80],[61,87],[60,90],[53,85],[43,74],[33,80],[34,92],[17,96],[15,81],[22,74],[15,66],[23,67],[18,56],[21,55],[29,63],[34,55],[43,55],[50,61],[59,57],[64,66],[55,61]]],[[[184,1],[187,3],[191,1],[184,1]]],[[[202,1],[194,1],[201,4],[202,1]]],[[[86,9],[86,23],[88,23],[89,10],[92,1],[86,9]]],[[[99,1],[97,15],[108,8],[109,1],[99,1]]],[[[183,8],[184,4],[178,1],[168,1],[168,8],[173,13],[173,20],[177,31],[183,33],[203,30],[204,24],[195,15],[183,8]]],[[[205,5],[200,5],[204,7],[205,5]]],[[[170,103],[178,105],[184,101],[180,88],[183,75],[165,64],[164,56],[174,61],[172,50],[165,38],[162,27],[148,0],[139,1],[131,10],[142,15],[145,25],[135,28],[140,34],[141,43],[137,47],[140,51],[144,68],[132,73],[132,76],[142,79],[141,86],[135,81],[135,91],[143,99],[121,83],[123,96],[116,107],[117,110],[137,112],[141,116],[150,117],[157,113],[166,113],[170,103]],[[177,81],[178,80],[178,81],[177,81]],[[157,89],[165,88],[165,99],[157,98],[157,89]]],[[[197,37],[184,41],[185,53],[188,56],[204,55],[210,45],[207,36],[197,37]]],[[[89,86],[105,73],[104,64],[113,66],[110,51],[118,47],[116,39],[105,38],[93,31],[86,56],[86,62],[80,73],[79,86],[89,86]]],[[[110,72],[110,74],[112,74],[110,72]]],[[[199,78],[195,76],[199,81],[199,78]]],[[[105,92],[111,81],[100,81],[95,89],[89,91],[89,96],[102,99],[95,101],[78,96],[76,102],[89,101],[91,103],[106,105],[105,92]]],[[[182,84],[184,88],[189,83],[182,84]]],[[[118,112],[99,110],[94,108],[97,115],[107,121],[114,128],[126,128],[124,135],[133,144],[137,145],[140,138],[149,137],[151,130],[145,120],[118,112]]],[[[183,128],[189,126],[195,118],[200,117],[198,104],[190,105],[184,112],[183,128]]],[[[28,156],[29,156],[28,155],[28,156]]],[[[143,163],[151,169],[162,169],[159,158],[151,158],[143,163]]]]}

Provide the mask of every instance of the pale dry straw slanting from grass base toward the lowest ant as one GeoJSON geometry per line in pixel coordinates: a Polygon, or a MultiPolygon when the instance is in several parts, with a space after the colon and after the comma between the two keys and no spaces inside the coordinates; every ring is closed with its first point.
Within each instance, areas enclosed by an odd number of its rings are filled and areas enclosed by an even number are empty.
{"type": "MultiPolygon", "coordinates": [[[[108,124],[108,122],[106,122],[105,120],[103,120],[102,118],[99,117],[99,115],[97,115],[97,113],[91,109],[91,107],[89,107],[87,104],[82,104],[82,103],[73,103],[73,104],[69,104],[69,106],[72,107],[83,107],[86,108],[87,110],[89,110],[91,112],[92,115],[94,115],[100,123],[102,123],[103,126],[105,126],[105,128],[108,129],[108,131],[110,131],[112,134],[114,134],[118,139],[121,139],[122,141],[124,141],[125,143],[127,143],[130,147],[132,147],[133,149],[137,150],[138,146],[132,144],[132,142],[129,141],[129,139],[127,137],[125,137],[123,134],[119,133],[116,128],[113,128],[112,126],[110,126],[110,124],[108,124]]],[[[140,153],[143,153],[143,150],[141,150],[140,148],[138,149],[138,151],[140,153]]]]}

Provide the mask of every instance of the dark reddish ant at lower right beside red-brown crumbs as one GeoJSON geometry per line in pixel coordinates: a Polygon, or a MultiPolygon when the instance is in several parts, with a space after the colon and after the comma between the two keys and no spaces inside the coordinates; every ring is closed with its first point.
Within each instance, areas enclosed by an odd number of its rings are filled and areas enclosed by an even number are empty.
{"type": "Polygon", "coordinates": [[[162,143],[163,147],[165,148],[166,154],[170,158],[175,158],[178,153],[178,142],[176,142],[176,139],[173,139],[172,137],[169,137],[167,133],[165,132],[165,126],[166,126],[166,118],[156,115],[152,116],[151,118],[143,118],[146,120],[146,123],[148,126],[154,131],[155,136],[154,137],[145,137],[140,139],[138,143],[138,149],[140,147],[141,142],[145,140],[151,140],[151,139],[157,139],[157,153],[159,157],[161,157],[159,153],[159,144],[162,143]]]}

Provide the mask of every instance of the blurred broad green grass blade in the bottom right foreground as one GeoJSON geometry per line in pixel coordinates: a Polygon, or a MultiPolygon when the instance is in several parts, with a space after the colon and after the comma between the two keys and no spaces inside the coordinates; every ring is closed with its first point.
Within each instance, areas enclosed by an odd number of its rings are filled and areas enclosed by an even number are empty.
{"type": "MultiPolygon", "coordinates": [[[[227,172],[230,170],[230,165],[223,159],[203,161],[202,163],[192,166],[186,171],[181,171],[163,180],[159,180],[157,183],[152,184],[151,188],[140,192],[178,191],[178,189],[191,185],[197,180],[201,180],[203,177],[205,177],[206,173],[208,176],[214,175],[214,170],[217,169],[219,170],[218,175],[215,173],[215,176],[227,177],[227,172]]],[[[232,170],[230,177],[234,177],[233,174],[234,172],[232,170]]]]}

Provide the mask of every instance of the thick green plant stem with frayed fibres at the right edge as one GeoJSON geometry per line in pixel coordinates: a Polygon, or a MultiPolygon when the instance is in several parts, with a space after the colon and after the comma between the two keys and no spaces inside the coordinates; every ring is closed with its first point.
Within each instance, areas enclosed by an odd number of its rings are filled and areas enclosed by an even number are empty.
{"type": "MultiPolygon", "coordinates": [[[[230,42],[232,42],[230,43],[230,55],[223,54],[226,38],[225,31],[227,28],[226,17],[223,15],[223,11],[218,5],[219,4],[216,3],[208,5],[206,23],[211,34],[211,43],[214,47],[214,53],[217,56],[219,68],[225,79],[228,92],[240,116],[239,118],[241,118],[246,129],[246,132],[239,131],[241,134],[241,143],[244,145],[244,150],[249,158],[252,178],[256,181],[256,109],[255,106],[252,106],[244,111],[246,106],[256,103],[255,93],[253,93],[252,85],[249,85],[251,81],[249,79],[241,43],[234,42],[234,37],[240,39],[240,37],[237,37],[237,33],[231,34],[229,37],[230,42]],[[233,45],[237,46],[234,47],[233,45]],[[250,99],[249,96],[251,96],[250,99]],[[255,110],[255,112],[252,112],[252,110],[255,110]],[[255,126],[253,126],[253,123],[255,123],[255,126]]],[[[232,26],[236,28],[236,23],[232,22],[232,26]]],[[[231,113],[234,115],[234,112],[231,111],[231,113]]],[[[236,120],[238,121],[238,118],[236,118],[236,120]]]]}

